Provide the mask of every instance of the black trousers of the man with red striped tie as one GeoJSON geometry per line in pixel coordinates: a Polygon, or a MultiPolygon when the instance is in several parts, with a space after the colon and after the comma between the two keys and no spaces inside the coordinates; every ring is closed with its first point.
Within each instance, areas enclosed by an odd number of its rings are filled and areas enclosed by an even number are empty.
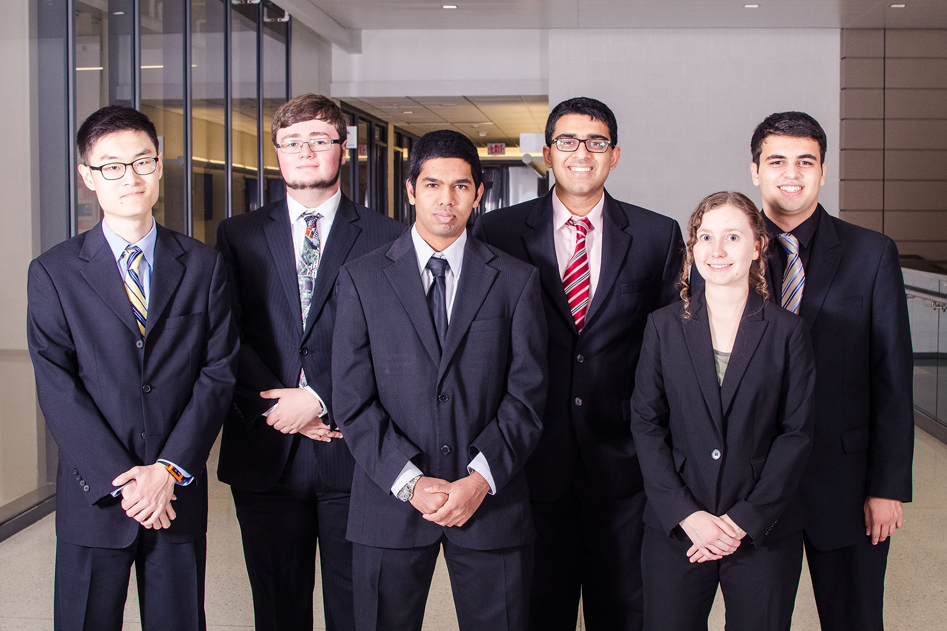
{"type": "Polygon", "coordinates": [[[644,491],[603,500],[575,485],[559,500],[530,503],[537,539],[529,628],[575,631],[581,595],[583,628],[640,631],[644,491]]]}

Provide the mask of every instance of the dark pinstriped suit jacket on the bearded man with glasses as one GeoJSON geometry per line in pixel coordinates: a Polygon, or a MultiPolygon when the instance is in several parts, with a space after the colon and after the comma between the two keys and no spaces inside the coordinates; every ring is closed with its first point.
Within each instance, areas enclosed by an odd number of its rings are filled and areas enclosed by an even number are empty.
{"type": "MultiPolygon", "coordinates": [[[[264,491],[277,482],[294,438],[266,424],[260,415],[273,407],[273,400],[259,393],[297,387],[300,368],[305,368],[309,385],[325,402],[328,422],[334,423],[331,340],[336,276],[343,263],[391,242],[403,230],[398,221],[342,196],[319,261],[304,332],[286,201],[221,221],[217,249],[230,273],[241,334],[237,387],[223,423],[217,470],[221,482],[248,491],[264,491]]],[[[316,447],[322,480],[348,490],[354,464],[344,441],[316,447]]]]}

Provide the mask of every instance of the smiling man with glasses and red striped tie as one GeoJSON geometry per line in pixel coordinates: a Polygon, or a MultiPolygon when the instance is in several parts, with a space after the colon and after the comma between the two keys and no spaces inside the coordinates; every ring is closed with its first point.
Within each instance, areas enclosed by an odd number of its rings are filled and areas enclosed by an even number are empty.
{"type": "Polygon", "coordinates": [[[549,327],[549,391],[526,464],[536,522],[530,628],[642,627],[644,490],[629,428],[648,314],[677,300],[677,222],[617,202],[615,114],[579,97],[549,114],[544,197],[484,215],[474,235],[539,268],[549,327]]]}

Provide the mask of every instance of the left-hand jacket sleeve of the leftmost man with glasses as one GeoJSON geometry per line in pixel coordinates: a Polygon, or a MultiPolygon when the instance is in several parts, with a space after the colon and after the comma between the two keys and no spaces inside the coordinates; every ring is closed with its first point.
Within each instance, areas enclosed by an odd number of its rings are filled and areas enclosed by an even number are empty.
{"type": "Polygon", "coordinates": [[[72,331],[59,292],[39,260],[27,277],[27,344],[36,375],[36,394],[60,459],[81,466],[89,503],[109,496],[116,476],[137,461],[118,440],[85,388],[72,331]]]}

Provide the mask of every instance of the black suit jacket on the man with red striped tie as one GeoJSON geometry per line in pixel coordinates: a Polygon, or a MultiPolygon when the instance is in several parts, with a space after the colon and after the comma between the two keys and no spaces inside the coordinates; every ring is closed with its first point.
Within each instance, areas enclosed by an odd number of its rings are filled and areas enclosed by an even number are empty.
{"type": "Polygon", "coordinates": [[[577,466],[588,491],[624,497],[643,488],[628,423],[645,319],[679,299],[681,231],[674,219],[605,193],[599,285],[579,334],[552,235],[552,195],[483,215],[474,235],[539,268],[549,326],[544,433],[527,463],[533,500],[555,500],[577,466]]]}

